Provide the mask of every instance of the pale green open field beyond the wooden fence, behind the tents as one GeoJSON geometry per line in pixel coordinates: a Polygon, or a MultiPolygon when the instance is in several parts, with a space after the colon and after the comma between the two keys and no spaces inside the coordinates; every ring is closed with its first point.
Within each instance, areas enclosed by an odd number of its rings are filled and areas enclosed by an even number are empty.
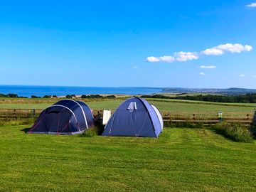
{"type": "MultiPolygon", "coordinates": [[[[29,101],[29,99],[28,99],[29,101]]],[[[52,101],[52,100],[50,100],[52,101]]],[[[115,110],[124,100],[85,100],[92,110],[115,110]]],[[[148,100],[151,104],[156,105],[161,112],[198,112],[209,113],[215,112],[254,112],[256,104],[238,104],[238,103],[213,103],[213,102],[194,102],[182,100],[148,100]]],[[[45,109],[54,102],[47,100],[38,100],[40,103],[1,103],[0,109],[45,109]]]]}

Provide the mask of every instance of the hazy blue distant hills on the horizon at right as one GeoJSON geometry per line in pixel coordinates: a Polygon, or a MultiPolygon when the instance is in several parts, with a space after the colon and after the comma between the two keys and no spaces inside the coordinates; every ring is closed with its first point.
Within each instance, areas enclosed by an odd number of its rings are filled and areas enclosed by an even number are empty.
{"type": "Polygon", "coordinates": [[[204,88],[164,88],[164,93],[198,93],[198,94],[218,94],[218,95],[245,95],[247,93],[256,93],[256,89],[228,88],[228,89],[204,89],[204,88]]]}

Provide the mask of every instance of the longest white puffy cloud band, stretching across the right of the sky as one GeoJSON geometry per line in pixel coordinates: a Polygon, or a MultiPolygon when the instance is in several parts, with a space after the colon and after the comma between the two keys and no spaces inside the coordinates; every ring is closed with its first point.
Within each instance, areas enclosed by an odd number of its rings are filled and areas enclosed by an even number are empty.
{"type": "Polygon", "coordinates": [[[226,43],[219,46],[215,46],[213,48],[207,48],[206,50],[202,50],[201,52],[176,52],[173,55],[164,55],[161,57],[150,56],[146,58],[148,62],[166,62],[172,63],[174,61],[188,61],[188,60],[197,60],[203,55],[223,55],[224,53],[241,53],[241,52],[249,52],[252,50],[252,46],[245,45],[239,43],[226,43]]]}

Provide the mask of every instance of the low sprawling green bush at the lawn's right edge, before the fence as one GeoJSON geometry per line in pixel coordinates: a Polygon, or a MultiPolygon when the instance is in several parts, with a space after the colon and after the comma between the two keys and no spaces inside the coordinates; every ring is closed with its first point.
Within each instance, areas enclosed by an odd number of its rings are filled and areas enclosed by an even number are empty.
{"type": "Polygon", "coordinates": [[[215,129],[215,131],[218,132],[219,134],[222,134],[225,137],[233,139],[233,141],[235,142],[254,142],[249,130],[245,127],[242,127],[240,124],[230,124],[227,122],[221,122],[215,124],[213,129],[215,129]]]}

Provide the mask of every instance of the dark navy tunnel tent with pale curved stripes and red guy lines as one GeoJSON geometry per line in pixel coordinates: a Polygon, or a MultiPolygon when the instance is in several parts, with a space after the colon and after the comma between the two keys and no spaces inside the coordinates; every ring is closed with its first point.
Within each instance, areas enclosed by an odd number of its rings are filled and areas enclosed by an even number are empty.
{"type": "Polygon", "coordinates": [[[93,125],[92,111],[84,102],[60,100],[41,112],[28,133],[80,134],[93,125]]]}

